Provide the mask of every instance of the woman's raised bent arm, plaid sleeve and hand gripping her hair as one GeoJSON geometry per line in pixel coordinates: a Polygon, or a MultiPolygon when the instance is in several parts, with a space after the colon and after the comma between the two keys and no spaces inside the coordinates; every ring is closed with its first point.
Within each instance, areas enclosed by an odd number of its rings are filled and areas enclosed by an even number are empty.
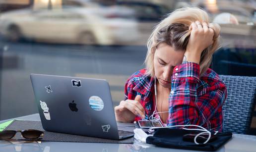
{"type": "MultiPolygon", "coordinates": [[[[226,98],[225,84],[213,77],[206,77],[203,95],[197,97],[199,63],[202,51],[213,43],[214,31],[203,22],[190,26],[191,36],[185,52],[185,62],[176,66],[169,96],[168,126],[181,124],[203,125],[212,118],[226,98]]],[[[215,125],[222,125],[222,115],[215,118],[215,125]]]]}

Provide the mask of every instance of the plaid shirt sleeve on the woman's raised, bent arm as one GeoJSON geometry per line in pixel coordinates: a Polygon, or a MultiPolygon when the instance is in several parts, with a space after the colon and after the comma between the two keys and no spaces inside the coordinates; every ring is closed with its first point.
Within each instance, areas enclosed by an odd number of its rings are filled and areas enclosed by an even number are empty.
{"type": "Polygon", "coordinates": [[[168,126],[203,125],[222,106],[226,98],[226,86],[217,79],[207,86],[203,95],[197,96],[199,64],[186,62],[173,71],[172,89],[169,96],[168,126]]]}

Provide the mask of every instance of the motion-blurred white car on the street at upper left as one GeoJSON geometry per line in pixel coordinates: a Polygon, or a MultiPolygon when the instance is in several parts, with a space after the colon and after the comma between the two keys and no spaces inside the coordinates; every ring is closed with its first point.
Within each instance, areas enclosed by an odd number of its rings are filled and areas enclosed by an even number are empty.
{"type": "Polygon", "coordinates": [[[104,16],[96,13],[98,10],[70,7],[10,11],[0,15],[0,34],[12,41],[26,38],[47,43],[129,45],[137,41],[135,20],[104,16]]]}

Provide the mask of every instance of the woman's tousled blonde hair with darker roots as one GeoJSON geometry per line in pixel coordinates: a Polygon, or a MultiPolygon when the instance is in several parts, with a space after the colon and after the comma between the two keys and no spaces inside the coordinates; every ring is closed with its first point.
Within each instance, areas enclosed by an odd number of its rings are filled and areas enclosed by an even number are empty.
{"type": "Polygon", "coordinates": [[[147,42],[147,55],[145,59],[146,75],[153,77],[154,53],[161,43],[174,48],[175,51],[186,51],[192,22],[206,22],[214,30],[213,44],[204,49],[200,57],[200,76],[208,69],[212,60],[212,54],[219,47],[220,26],[216,23],[209,23],[209,16],[205,10],[199,7],[182,7],[168,14],[159,24],[157,24],[147,42]]]}

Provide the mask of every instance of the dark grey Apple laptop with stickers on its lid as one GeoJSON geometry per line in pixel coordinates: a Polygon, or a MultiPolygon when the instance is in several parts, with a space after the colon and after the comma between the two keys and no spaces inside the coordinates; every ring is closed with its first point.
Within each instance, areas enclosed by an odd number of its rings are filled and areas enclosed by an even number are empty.
{"type": "Polygon", "coordinates": [[[42,74],[30,79],[46,131],[114,140],[134,135],[118,129],[106,80],[42,74]]]}

